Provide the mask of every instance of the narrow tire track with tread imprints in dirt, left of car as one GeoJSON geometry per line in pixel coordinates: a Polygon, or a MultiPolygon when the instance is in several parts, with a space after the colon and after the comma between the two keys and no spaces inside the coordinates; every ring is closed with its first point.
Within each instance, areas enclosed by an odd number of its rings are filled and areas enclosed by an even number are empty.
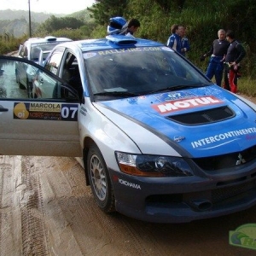
{"type": "Polygon", "coordinates": [[[44,206],[41,183],[29,157],[22,157],[21,179],[26,184],[21,203],[21,233],[23,255],[47,255],[47,235],[44,228],[44,206]]]}

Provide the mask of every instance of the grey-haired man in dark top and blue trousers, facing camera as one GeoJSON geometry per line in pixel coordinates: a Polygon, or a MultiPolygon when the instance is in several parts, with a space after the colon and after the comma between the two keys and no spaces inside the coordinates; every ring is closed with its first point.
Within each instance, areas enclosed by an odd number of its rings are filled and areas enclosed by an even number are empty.
{"type": "Polygon", "coordinates": [[[224,57],[230,45],[225,36],[226,32],[224,29],[218,30],[218,39],[213,41],[211,49],[201,59],[203,61],[207,56],[211,55],[206,76],[208,79],[212,79],[214,76],[218,86],[221,86],[224,71],[224,57]]]}

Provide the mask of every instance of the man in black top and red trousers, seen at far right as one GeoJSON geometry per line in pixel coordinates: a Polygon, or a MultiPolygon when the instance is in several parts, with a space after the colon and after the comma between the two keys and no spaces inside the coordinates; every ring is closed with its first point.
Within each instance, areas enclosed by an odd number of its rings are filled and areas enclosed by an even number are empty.
{"type": "Polygon", "coordinates": [[[230,46],[225,56],[224,67],[224,89],[237,92],[237,78],[240,69],[240,62],[246,55],[246,51],[235,38],[235,33],[229,30],[226,33],[226,38],[230,42],[230,46]]]}

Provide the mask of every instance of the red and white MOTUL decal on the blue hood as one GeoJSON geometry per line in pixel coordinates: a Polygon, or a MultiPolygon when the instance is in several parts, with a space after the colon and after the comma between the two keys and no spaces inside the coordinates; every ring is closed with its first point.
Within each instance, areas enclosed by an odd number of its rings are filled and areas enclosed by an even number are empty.
{"type": "Polygon", "coordinates": [[[199,108],[202,106],[220,104],[222,102],[223,101],[214,96],[197,96],[189,99],[179,99],[161,104],[154,104],[152,108],[159,113],[173,113],[179,110],[199,108]]]}

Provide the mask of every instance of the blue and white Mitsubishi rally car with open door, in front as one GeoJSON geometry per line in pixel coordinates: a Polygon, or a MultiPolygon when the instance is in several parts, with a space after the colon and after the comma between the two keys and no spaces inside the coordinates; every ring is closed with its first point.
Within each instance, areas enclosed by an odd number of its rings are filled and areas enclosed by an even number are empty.
{"type": "Polygon", "coordinates": [[[177,52],[108,36],[58,44],[44,65],[0,57],[0,154],[79,157],[103,212],[148,222],[256,205],[256,105],[177,52]]]}

